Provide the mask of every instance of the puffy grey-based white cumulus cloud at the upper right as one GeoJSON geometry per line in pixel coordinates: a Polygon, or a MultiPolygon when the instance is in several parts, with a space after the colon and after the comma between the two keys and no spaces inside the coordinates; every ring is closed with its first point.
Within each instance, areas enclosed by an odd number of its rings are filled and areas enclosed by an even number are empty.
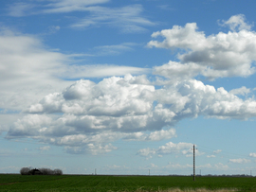
{"type": "Polygon", "coordinates": [[[153,38],[160,36],[164,40],[151,41],[148,43],[149,47],[184,50],[177,55],[180,63],[170,61],[166,65],[156,67],[155,74],[170,79],[179,75],[184,78],[203,75],[208,79],[216,79],[248,77],[254,74],[255,67],[252,63],[256,60],[256,33],[250,31],[245,23],[240,26],[239,31],[220,32],[208,37],[203,31],[198,31],[195,23],[153,33],[153,38]]]}

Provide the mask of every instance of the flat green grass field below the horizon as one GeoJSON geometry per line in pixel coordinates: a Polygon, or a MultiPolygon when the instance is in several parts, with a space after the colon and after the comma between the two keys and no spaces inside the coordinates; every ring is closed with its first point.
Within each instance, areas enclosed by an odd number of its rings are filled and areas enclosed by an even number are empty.
{"type": "Polygon", "coordinates": [[[253,177],[0,175],[0,191],[256,191],[253,177]],[[172,190],[171,190],[172,189],[172,190]],[[175,189],[175,190],[174,190],[175,189]],[[223,190],[226,189],[226,190],[223,190]],[[227,190],[228,189],[228,190],[227,190]]]}

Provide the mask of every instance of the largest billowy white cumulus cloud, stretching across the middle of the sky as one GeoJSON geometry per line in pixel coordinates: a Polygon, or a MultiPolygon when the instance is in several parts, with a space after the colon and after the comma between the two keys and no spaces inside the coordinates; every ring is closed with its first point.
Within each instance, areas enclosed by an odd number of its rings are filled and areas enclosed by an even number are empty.
{"type": "MultiPolygon", "coordinates": [[[[187,117],[247,119],[255,116],[256,101],[253,98],[243,100],[224,88],[216,90],[195,79],[155,89],[145,76],[127,75],[102,79],[99,83],[78,80],[63,92],[45,96],[24,112],[27,114],[9,128],[7,138],[30,137],[80,153],[85,152],[84,148],[86,152],[93,151],[87,145],[99,141],[173,138],[175,130],[164,128],[187,117]],[[78,148],[79,145],[83,147],[78,148]]],[[[155,153],[163,155],[182,145],[169,143],[155,153]]],[[[181,152],[190,156],[189,151],[181,152]]]]}

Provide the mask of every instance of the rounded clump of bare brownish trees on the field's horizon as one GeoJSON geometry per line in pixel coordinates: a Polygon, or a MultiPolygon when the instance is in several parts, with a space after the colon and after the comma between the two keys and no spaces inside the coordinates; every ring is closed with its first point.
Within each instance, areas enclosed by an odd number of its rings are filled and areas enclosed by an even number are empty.
{"type": "Polygon", "coordinates": [[[32,168],[22,167],[20,170],[21,175],[63,175],[63,171],[59,168],[32,168]]]}

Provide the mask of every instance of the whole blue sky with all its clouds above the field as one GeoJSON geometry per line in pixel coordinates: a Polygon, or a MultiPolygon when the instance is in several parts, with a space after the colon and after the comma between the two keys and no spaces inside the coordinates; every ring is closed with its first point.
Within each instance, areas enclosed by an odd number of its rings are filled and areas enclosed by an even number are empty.
{"type": "Polygon", "coordinates": [[[255,7],[0,1],[0,173],[256,176],[255,7]]]}

